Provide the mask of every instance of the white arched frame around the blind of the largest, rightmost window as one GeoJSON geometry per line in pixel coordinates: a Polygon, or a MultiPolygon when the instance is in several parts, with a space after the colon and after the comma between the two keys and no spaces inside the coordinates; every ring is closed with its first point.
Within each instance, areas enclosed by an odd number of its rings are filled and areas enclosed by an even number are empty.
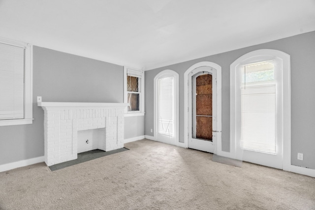
{"type": "MultiPolygon", "coordinates": [[[[246,53],[236,59],[230,65],[230,158],[242,159],[243,155],[237,152],[237,139],[239,139],[240,131],[240,97],[238,88],[240,74],[237,73],[240,65],[247,63],[259,62],[267,59],[276,59],[276,85],[278,89],[277,100],[281,101],[281,107],[278,108],[277,118],[281,119],[277,123],[282,134],[282,151],[279,156],[282,156],[282,163],[270,163],[270,167],[281,168],[287,170],[290,166],[291,158],[291,98],[290,98],[290,55],[278,50],[256,50],[246,53]],[[277,71],[278,69],[278,71],[277,71]],[[279,74],[279,76],[277,76],[279,74]],[[278,79],[277,79],[278,78],[278,79]],[[281,97],[279,99],[278,97],[281,97]]],[[[277,120],[278,120],[277,119],[277,120]]],[[[258,163],[261,164],[261,163],[258,163]]]]}

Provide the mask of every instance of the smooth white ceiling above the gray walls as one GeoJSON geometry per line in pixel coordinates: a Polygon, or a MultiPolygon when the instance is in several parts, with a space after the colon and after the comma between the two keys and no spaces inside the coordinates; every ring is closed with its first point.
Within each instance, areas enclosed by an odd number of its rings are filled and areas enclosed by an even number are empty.
{"type": "Polygon", "coordinates": [[[315,30],[315,0],[0,0],[0,37],[150,70],[315,30]]]}

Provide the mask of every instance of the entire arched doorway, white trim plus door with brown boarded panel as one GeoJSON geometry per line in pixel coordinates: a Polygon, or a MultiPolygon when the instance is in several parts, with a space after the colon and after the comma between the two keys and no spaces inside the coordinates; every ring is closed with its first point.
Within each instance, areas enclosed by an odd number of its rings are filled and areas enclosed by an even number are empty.
{"type": "Polygon", "coordinates": [[[217,153],[219,142],[221,149],[221,67],[200,62],[191,66],[184,78],[185,146],[217,153]]]}

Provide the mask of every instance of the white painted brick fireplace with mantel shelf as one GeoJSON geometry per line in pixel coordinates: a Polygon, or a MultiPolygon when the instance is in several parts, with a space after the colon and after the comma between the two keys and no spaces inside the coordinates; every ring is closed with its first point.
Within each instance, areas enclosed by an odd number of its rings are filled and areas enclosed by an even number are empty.
{"type": "Polygon", "coordinates": [[[111,151],[124,147],[122,103],[38,102],[44,109],[44,150],[47,166],[77,159],[78,131],[101,129],[98,148],[111,151]]]}

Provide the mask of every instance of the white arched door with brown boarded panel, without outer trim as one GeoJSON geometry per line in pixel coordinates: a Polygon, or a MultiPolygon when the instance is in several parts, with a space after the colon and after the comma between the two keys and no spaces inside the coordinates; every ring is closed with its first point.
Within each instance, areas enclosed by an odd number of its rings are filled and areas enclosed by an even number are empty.
{"type": "Polygon", "coordinates": [[[188,77],[188,147],[214,153],[217,147],[217,70],[193,69],[188,77]]]}

